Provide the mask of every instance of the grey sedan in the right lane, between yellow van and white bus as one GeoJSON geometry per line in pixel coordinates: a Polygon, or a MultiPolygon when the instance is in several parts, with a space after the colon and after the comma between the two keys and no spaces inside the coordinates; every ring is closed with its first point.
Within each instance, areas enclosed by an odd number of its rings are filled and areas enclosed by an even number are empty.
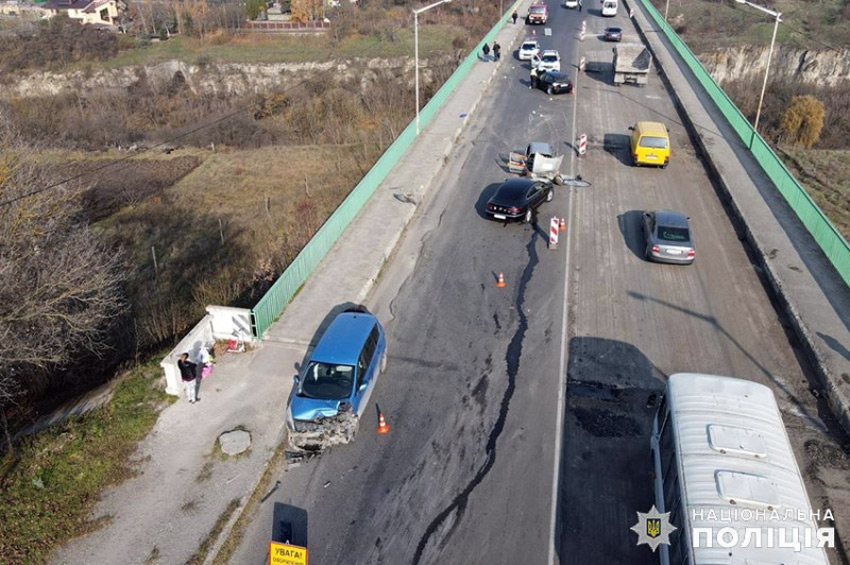
{"type": "Polygon", "coordinates": [[[644,257],[658,263],[693,263],[696,250],[689,220],[681,212],[673,210],[644,212],[641,222],[646,242],[644,257]]]}

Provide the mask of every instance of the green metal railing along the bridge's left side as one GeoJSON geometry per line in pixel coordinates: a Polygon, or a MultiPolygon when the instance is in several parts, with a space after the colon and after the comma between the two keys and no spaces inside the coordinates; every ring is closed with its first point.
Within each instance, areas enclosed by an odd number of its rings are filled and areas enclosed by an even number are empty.
{"type": "MultiPolygon", "coordinates": [[[[519,2],[516,2],[512,8],[502,14],[499,22],[476,45],[472,53],[467,55],[461,64],[458,65],[452,76],[448,78],[437,93],[434,94],[433,98],[419,111],[420,129],[428,125],[434,114],[448,100],[455,87],[466,77],[467,73],[469,73],[472,66],[478,60],[478,53],[481,51],[481,47],[484,43],[489,43],[495,38],[496,33],[507,21],[508,14],[517,5],[519,5],[519,2]]],[[[322,258],[330,251],[333,244],[336,243],[336,240],[339,239],[339,236],[342,235],[342,232],[351,223],[351,220],[360,212],[360,209],[369,200],[369,197],[372,196],[378,185],[387,177],[398,160],[405,154],[415,138],[416,119],[414,118],[254,306],[251,311],[251,329],[254,337],[262,338],[266,330],[280,316],[283,309],[307,280],[307,277],[310,276],[322,258]]]]}

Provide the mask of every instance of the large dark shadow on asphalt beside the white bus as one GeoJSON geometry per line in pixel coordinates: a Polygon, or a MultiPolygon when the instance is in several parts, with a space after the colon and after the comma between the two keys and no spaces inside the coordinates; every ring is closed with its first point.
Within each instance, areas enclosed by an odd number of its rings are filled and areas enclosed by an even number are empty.
{"type": "Polygon", "coordinates": [[[649,440],[667,375],[640,349],[617,340],[572,338],[568,358],[556,508],[559,562],[657,563],[630,528],[637,512],[654,502],[649,440]]]}

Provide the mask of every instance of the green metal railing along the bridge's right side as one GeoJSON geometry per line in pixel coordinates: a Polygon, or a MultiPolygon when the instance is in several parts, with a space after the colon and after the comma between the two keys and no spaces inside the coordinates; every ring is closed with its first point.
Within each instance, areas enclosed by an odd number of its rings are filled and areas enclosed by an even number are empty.
{"type": "Polygon", "coordinates": [[[649,0],[638,0],[654,20],[679,56],[691,69],[696,79],[700,82],[709,97],[714,101],[717,108],[735,130],[738,136],[746,143],[750,151],[761,166],[765,174],[773,182],[779,193],[785,198],[791,209],[809,230],[809,233],[820,245],[826,257],[832,262],[835,270],[850,285],[850,245],[847,240],[835,229],[829,218],[823,213],[812,200],[806,190],[800,185],[776,153],[767,142],[753,129],[747,118],[738,110],[738,107],[729,100],[723,89],[714,82],[711,75],[699,62],[696,55],[688,48],[676,32],[664,21],[664,18],[649,2],[649,0]]]}

